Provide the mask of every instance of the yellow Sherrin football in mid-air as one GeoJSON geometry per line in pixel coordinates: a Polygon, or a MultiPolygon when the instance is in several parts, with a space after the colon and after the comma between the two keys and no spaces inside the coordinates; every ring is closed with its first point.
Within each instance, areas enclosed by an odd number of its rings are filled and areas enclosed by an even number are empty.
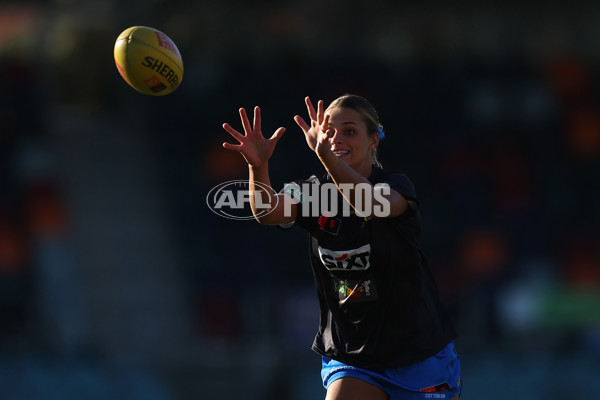
{"type": "Polygon", "coordinates": [[[183,78],[183,60],[175,43],[147,26],[125,29],[115,42],[115,64],[131,87],[144,94],[173,92],[183,78]]]}

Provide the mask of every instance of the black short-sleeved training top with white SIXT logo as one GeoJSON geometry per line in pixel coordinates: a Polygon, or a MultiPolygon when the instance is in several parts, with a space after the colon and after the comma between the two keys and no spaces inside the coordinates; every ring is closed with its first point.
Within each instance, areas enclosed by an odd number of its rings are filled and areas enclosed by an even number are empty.
{"type": "Polygon", "coordinates": [[[337,214],[331,215],[331,206],[323,212],[319,204],[315,215],[315,193],[332,193],[319,189],[333,184],[329,176],[312,176],[283,189],[299,199],[294,224],[309,234],[320,306],[312,348],[363,368],[410,365],[439,352],[456,334],[419,248],[421,220],[412,182],[375,165],[369,181],[389,184],[410,207],[393,218],[345,216],[343,198],[335,191],[337,214]],[[302,207],[309,199],[310,207],[302,207]]]}

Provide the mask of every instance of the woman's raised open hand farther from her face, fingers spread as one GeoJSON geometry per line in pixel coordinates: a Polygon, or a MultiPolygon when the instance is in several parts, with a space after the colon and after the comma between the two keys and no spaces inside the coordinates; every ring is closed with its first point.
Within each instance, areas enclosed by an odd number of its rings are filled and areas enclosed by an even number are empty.
{"type": "Polygon", "coordinates": [[[242,120],[245,135],[233,129],[228,123],[223,124],[223,129],[240,142],[240,144],[225,142],[223,143],[223,147],[227,150],[241,153],[248,165],[260,167],[266,164],[269,158],[271,158],[275,145],[277,144],[277,141],[281,139],[283,132],[285,132],[285,128],[280,127],[269,139],[265,138],[261,130],[259,107],[254,107],[253,126],[250,124],[246,110],[243,108],[240,108],[240,118],[242,120]]]}

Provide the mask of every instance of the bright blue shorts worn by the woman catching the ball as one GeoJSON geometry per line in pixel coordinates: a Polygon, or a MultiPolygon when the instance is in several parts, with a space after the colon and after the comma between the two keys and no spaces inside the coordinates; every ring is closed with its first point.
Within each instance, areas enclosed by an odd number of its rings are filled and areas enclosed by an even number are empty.
{"type": "Polygon", "coordinates": [[[460,397],[460,360],[450,342],[436,355],[416,364],[387,369],[364,369],[323,357],[321,378],[331,382],[352,377],[383,390],[390,400],[454,400],[460,397]]]}

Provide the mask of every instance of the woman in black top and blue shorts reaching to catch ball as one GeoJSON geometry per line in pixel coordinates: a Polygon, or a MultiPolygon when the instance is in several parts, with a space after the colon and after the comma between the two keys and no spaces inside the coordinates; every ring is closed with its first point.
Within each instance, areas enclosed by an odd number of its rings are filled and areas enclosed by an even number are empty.
{"type": "Polygon", "coordinates": [[[263,190],[271,187],[268,161],[285,128],[265,138],[258,107],[252,124],[239,110],[243,134],[223,125],[239,142],[223,146],[248,163],[258,222],[309,233],[321,313],[312,348],[322,357],[326,400],[458,399],[456,334],[420,249],[414,186],[377,160],[384,136],[377,112],[356,95],[325,110],[321,100],[316,109],[310,98],[305,103],[310,123],[294,120],[323,177],[290,182],[277,194],[263,190]]]}

